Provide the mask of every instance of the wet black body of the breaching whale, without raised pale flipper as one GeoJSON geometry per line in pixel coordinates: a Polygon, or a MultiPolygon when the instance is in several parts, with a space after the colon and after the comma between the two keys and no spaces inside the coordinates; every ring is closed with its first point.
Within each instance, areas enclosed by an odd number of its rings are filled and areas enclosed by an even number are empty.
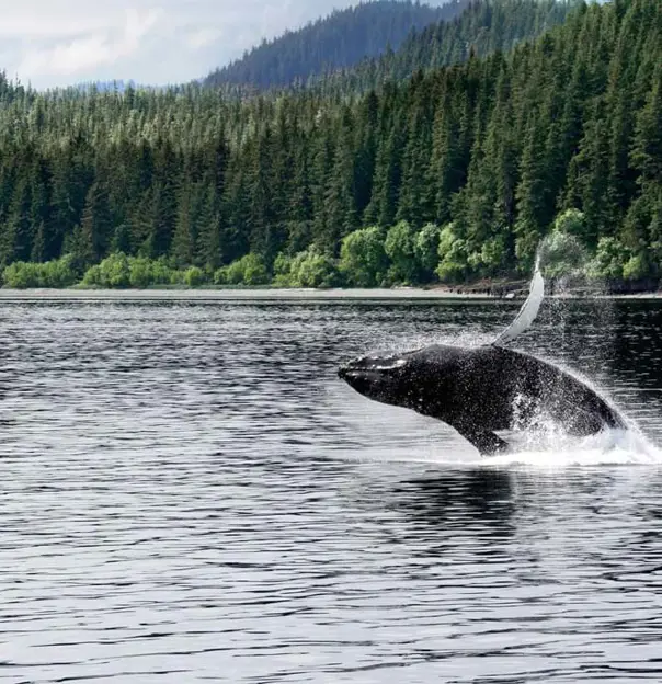
{"type": "Polygon", "coordinates": [[[625,422],[582,381],[535,356],[486,345],[433,345],[390,357],[358,358],[339,369],[357,392],[413,409],[455,428],[482,454],[507,447],[494,434],[533,426],[540,414],[572,435],[625,422]]]}

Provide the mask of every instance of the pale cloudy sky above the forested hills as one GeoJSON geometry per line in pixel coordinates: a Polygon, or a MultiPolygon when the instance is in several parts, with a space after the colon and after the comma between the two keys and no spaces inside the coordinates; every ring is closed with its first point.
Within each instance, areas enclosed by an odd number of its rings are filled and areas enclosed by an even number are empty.
{"type": "MultiPolygon", "coordinates": [[[[181,83],[353,0],[0,0],[0,69],[45,89],[181,83]]],[[[435,0],[431,4],[441,4],[435,0]]]]}

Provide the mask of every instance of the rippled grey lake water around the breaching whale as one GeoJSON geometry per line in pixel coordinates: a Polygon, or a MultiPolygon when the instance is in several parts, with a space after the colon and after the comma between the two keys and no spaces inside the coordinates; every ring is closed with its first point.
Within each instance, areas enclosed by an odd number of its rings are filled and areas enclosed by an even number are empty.
{"type": "Polygon", "coordinates": [[[516,308],[0,303],[0,682],[662,681],[662,303],[515,344],[627,435],[481,459],[335,376],[516,308]]]}

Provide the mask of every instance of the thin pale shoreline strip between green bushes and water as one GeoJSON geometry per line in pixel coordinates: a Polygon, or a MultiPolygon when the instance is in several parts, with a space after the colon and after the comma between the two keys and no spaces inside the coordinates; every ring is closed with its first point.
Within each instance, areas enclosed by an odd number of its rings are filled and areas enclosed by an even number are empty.
{"type": "MultiPolygon", "coordinates": [[[[0,300],[217,300],[217,301],[250,301],[250,300],[493,300],[521,301],[528,293],[513,293],[505,297],[484,292],[458,290],[458,288],[235,288],[235,289],[205,289],[205,288],[147,288],[147,289],[0,289],[0,300]]],[[[553,299],[662,299],[662,292],[634,294],[552,294],[546,295],[553,299]]]]}

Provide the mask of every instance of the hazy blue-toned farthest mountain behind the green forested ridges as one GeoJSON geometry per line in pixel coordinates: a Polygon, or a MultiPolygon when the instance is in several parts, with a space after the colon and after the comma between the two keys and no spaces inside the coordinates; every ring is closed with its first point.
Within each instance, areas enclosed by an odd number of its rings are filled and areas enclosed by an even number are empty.
{"type": "Polygon", "coordinates": [[[450,20],[469,0],[450,0],[440,8],[395,0],[378,0],[336,10],[324,19],[278,38],[263,42],[227,67],[209,73],[207,87],[287,87],[311,76],[352,67],[397,49],[412,31],[450,20]]]}

